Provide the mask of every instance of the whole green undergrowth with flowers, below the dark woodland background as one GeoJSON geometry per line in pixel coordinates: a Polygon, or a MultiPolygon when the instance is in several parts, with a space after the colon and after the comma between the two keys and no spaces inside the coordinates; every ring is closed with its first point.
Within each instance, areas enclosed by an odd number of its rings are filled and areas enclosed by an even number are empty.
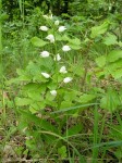
{"type": "Polygon", "coordinates": [[[2,25],[1,160],[121,162],[120,22],[37,12],[2,25]]]}

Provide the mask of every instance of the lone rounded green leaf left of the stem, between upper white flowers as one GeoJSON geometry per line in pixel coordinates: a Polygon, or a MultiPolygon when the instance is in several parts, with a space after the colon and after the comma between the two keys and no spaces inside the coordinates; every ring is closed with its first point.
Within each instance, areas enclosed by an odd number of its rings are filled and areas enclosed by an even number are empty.
{"type": "Polygon", "coordinates": [[[47,41],[44,41],[38,37],[33,37],[30,41],[35,47],[44,47],[47,45],[47,41]]]}

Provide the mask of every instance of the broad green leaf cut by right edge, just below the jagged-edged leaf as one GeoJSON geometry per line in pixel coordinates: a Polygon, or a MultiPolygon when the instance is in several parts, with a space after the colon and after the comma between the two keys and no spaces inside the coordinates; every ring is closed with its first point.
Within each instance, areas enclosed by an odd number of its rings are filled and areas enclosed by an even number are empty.
{"type": "Polygon", "coordinates": [[[107,57],[108,62],[114,62],[119,59],[122,59],[122,50],[113,50],[107,57]]]}

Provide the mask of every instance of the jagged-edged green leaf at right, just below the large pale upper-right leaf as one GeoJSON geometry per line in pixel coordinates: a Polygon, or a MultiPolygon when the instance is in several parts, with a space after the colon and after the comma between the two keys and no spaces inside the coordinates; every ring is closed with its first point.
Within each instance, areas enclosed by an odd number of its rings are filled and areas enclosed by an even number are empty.
{"type": "Polygon", "coordinates": [[[103,43],[107,46],[117,45],[117,36],[108,34],[108,36],[103,39],[103,43]]]}

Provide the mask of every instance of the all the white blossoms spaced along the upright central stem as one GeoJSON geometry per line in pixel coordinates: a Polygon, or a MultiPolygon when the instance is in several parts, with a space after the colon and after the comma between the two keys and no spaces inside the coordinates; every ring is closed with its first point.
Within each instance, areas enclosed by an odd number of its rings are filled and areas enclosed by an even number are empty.
{"type": "MultiPolygon", "coordinates": [[[[52,15],[51,16],[47,16],[47,15],[44,15],[44,17],[45,18],[52,18],[52,15]]],[[[58,33],[63,33],[64,30],[66,30],[66,27],[65,26],[59,26],[59,24],[60,24],[60,22],[59,21],[54,21],[54,25],[56,26],[58,26],[57,28],[58,28],[58,33]]],[[[39,27],[39,29],[40,30],[42,30],[42,32],[48,32],[49,30],[49,27],[47,27],[47,26],[40,26],[39,27]]],[[[47,40],[49,40],[50,41],[50,43],[56,43],[56,36],[53,35],[53,34],[49,34],[49,35],[47,35],[47,37],[46,37],[46,39],[47,40]]],[[[70,51],[71,50],[71,47],[69,46],[69,45],[64,45],[64,46],[62,46],[62,48],[61,48],[61,50],[63,51],[63,52],[68,52],[68,51],[70,51]]],[[[41,58],[48,58],[50,55],[50,52],[48,52],[48,51],[42,51],[42,52],[40,52],[40,57],[41,58]]],[[[61,60],[61,55],[58,53],[58,54],[56,54],[56,57],[53,58],[53,60],[57,62],[57,61],[60,61],[61,60]]],[[[68,73],[68,70],[66,70],[66,67],[63,65],[63,66],[61,66],[60,67],[60,70],[59,70],[59,73],[60,74],[66,74],[68,73]]],[[[42,72],[41,73],[41,75],[45,77],[45,78],[50,78],[50,74],[48,74],[48,73],[46,73],[46,72],[42,72]]],[[[68,83],[70,83],[70,82],[72,82],[72,77],[64,77],[63,78],[63,80],[62,80],[62,83],[64,83],[64,84],[68,84],[68,83]]],[[[52,96],[57,96],[57,90],[50,90],[50,93],[52,95],[52,96]]]]}

